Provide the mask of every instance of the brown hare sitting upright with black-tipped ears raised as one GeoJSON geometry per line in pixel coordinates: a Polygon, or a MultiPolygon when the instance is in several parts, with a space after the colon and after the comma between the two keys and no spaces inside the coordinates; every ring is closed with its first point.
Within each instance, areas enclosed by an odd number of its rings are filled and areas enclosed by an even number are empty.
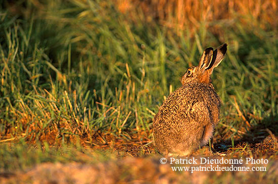
{"type": "Polygon", "coordinates": [[[154,142],[160,153],[186,156],[212,138],[221,101],[210,75],[227,51],[227,44],[206,48],[199,65],[181,78],[182,86],[159,107],[153,121],[154,142]]]}

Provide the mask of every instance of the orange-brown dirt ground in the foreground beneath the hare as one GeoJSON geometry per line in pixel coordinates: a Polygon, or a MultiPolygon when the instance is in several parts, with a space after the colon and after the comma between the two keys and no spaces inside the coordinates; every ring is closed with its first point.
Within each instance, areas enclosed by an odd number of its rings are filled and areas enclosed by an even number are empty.
{"type": "MultiPolygon", "coordinates": [[[[266,135],[266,134],[265,134],[266,135]]],[[[134,140],[133,140],[134,141],[134,140]]],[[[145,140],[146,141],[146,140],[145,140]]],[[[144,146],[136,141],[122,142],[113,146],[117,159],[97,164],[86,163],[42,163],[24,171],[0,173],[1,183],[277,183],[278,154],[277,136],[261,136],[257,139],[231,141],[216,139],[214,150],[206,146],[189,158],[222,157],[264,158],[267,164],[240,164],[240,166],[265,166],[266,171],[173,171],[172,166],[190,166],[190,164],[161,164],[160,155],[151,143],[144,146]]],[[[144,142],[144,141],[143,141],[144,142]]],[[[142,142],[141,142],[142,143],[142,142]]],[[[104,144],[102,149],[111,148],[104,144]]],[[[100,148],[98,148],[100,149],[100,148]]],[[[166,159],[169,160],[168,157],[166,159]]],[[[230,166],[224,164],[222,166],[230,166]]],[[[200,166],[195,165],[195,166],[200,166]]],[[[215,166],[215,164],[213,164],[215,166]]]]}

